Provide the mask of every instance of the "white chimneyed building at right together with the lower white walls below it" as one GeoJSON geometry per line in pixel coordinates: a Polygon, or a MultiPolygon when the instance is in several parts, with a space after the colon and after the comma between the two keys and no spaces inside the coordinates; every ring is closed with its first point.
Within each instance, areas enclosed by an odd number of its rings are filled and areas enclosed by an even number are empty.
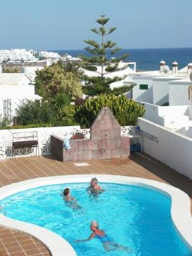
{"type": "Polygon", "coordinates": [[[136,83],[132,99],[145,106],[146,120],[172,131],[189,131],[189,127],[192,129],[192,65],[189,63],[178,70],[175,61],[171,71],[166,67],[166,72],[163,72],[164,64],[161,61],[157,72],[129,77],[136,83]]]}

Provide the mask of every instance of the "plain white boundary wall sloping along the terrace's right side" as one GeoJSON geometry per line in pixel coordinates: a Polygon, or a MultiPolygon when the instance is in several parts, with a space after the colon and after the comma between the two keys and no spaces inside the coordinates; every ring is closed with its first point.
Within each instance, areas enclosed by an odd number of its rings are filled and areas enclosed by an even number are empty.
{"type": "Polygon", "coordinates": [[[192,139],[144,118],[138,118],[138,125],[142,131],[156,136],[158,140],[157,143],[141,136],[143,151],[192,179],[192,139]]]}

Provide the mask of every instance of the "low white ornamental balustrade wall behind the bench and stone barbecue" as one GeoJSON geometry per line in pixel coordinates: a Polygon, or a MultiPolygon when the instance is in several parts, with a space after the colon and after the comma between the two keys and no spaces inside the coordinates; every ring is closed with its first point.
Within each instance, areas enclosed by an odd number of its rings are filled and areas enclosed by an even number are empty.
{"type": "MultiPolygon", "coordinates": [[[[12,157],[12,142],[13,134],[16,132],[22,132],[25,136],[25,132],[38,132],[38,148],[40,155],[51,154],[51,134],[59,136],[61,138],[71,138],[76,132],[84,134],[84,139],[88,140],[91,137],[90,129],[81,129],[79,125],[65,126],[65,127],[40,127],[29,129],[11,129],[0,130],[0,159],[12,157]]],[[[122,136],[129,136],[136,133],[136,126],[123,126],[121,129],[122,136]]],[[[26,133],[26,136],[28,136],[26,133]]],[[[14,156],[30,156],[35,154],[34,148],[17,148],[15,149],[14,156]]]]}

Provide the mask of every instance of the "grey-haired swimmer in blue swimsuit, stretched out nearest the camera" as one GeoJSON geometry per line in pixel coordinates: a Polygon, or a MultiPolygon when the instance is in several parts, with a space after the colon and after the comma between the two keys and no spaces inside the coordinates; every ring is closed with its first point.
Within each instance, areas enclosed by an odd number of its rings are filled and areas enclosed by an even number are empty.
{"type": "Polygon", "coordinates": [[[83,240],[76,240],[76,243],[82,243],[92,240],[93,238],[99,239],[106,252],[112,251],[112,250],[121,250],[125,252],[131,252],[131,249],[127,246],[122,246],[120,244],[117,244],[113,242],[113,239],[109,237],[104,230],[99,229],[99,223],[97,221],[93,220],[90,225],[90,230],[92,230],[92,234],[87,239],[83,240]]]}

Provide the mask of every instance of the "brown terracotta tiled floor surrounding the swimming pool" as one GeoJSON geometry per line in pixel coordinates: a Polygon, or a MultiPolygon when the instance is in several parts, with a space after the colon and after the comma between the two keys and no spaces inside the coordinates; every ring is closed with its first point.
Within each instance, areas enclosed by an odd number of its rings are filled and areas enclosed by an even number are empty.
{"type": "MultiPolygon", "coordinates": [[[[77,167],[72,162],[62,163],[52,157],[20,157],[0,161],[0,187],[13,182],[37,177],[72,174],[113,174],[142,177],[172,184],[182,189],[191,198],[192,180],[180,175],[164,164],[146,156],[132,154],[130,159],[86,161],[90,166],[77,167]]],[[[192,213],[192,207],[191,207],[192,213]]],[[[17,230],[0,227],[0,256],[47,256],[43,244],[17,230]]]]}

